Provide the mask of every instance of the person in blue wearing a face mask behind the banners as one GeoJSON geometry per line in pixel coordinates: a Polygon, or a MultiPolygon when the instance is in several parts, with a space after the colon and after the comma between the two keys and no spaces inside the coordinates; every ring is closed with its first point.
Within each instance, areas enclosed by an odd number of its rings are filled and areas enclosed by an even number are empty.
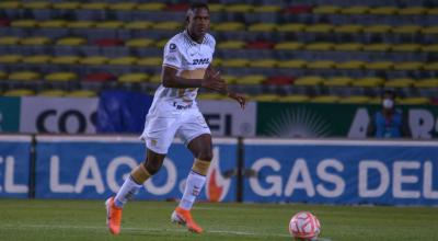
{"type": "Polygon", "coordinates": [[[371,118],[367,128],[368,137],[411,137],[411,130],[401,110],[395,108],[395,93],[387,90],[382,95],[382,108],[371,118]]]}

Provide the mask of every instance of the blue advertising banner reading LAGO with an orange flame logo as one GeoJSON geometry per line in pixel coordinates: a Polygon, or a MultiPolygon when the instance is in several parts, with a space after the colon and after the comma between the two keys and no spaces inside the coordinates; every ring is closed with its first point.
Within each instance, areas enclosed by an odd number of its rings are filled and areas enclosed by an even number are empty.
{"type": "MultiPolygon", "coordinates": [[[[235,139],[214,139],[206,188],[198,199],[235,199],[235,180],[223,172],[235,168],[235,139]]],[[[37,198],[107,198],[145,159],[145,145],[129,137],[37,137],[37,198]]],[[[136,199],[181,198],[193,164],[187,148],[175,141],[158,174],[145,183],[136,199]]]]}

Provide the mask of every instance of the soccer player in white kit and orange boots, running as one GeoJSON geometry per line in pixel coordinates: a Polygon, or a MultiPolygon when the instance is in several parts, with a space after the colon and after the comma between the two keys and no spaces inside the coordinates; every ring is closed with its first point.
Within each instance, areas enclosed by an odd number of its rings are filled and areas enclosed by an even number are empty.
{"type": "Polygon", "coordinates": [[[196,105],[197,90],[206,88],[227,94],[242,108],[245,106],[244,95],[230,92],[220,73],[210,66],[216,41],[207,33],[209,23],[208,5],[192,4],[186,14],[186,30],[164,47],[162,83],[155,91],[141,135],[147,147],[146,160],[130,172],[118,193],[106,200],[107,227],[113,234],[120,232],[124,205],[160,170],[175,135],[184,140],[195,161],[171,220],[185,225],[189,231],[203,232],[191,209],[204,187],[212,150],[210,129],[196,105]]]}

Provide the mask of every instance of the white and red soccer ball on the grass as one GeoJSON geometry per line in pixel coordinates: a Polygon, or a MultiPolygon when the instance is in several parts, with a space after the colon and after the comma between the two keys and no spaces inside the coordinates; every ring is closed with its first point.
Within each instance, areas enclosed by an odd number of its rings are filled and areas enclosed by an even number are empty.
{"type": "Polygon", "coordinates": [[[320,221],[309,211],[300,211],[290,219],[289,233],[296,240],[316,240],[320,232],[320,221]]]}

